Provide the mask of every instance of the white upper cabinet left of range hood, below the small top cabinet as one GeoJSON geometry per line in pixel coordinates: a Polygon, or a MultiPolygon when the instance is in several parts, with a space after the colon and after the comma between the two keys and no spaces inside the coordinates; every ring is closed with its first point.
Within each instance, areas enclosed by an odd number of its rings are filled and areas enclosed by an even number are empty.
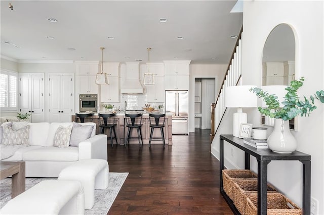
{"type": "Polygon", "coordinates": [[[108,78],[109,84],[101,85],[101,102],[119,102],[119,77],[108,78]]]}

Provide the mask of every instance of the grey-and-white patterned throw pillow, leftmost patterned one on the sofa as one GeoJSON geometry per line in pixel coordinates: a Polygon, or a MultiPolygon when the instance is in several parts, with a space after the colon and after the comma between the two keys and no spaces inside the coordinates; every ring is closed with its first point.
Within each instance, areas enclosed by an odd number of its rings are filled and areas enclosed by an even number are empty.
{"type": "Polygon", "coordinates": [[[18,130],[14,130],[10,126],[3,126],[3,145],[29,145],[29,125],[20,128],[18,130]]]}

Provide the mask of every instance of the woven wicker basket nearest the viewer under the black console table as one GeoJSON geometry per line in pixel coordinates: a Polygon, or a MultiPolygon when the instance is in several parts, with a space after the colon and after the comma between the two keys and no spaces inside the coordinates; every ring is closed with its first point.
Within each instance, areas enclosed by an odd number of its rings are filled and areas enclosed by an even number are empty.
{"type": "MultiPolygon", "coordinates": [[[[258,194],[245,193],[247,196],[245,200],[245,214],[257,215],[258,214],[258,194]]],[[[300,209],[286,196],[281,193],[268,193],[267,198],[267,214],[268,215],[301,215],[300,209]]]]}

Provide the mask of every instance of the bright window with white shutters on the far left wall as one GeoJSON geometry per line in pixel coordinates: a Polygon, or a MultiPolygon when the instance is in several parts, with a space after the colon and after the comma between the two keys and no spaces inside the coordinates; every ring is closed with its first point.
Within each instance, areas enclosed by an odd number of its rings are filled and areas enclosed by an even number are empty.
{"type": "Polygon", "coordinates": [[[0,110],[17,111],[16,72],[1,70],[0,73],[0,110]]]}

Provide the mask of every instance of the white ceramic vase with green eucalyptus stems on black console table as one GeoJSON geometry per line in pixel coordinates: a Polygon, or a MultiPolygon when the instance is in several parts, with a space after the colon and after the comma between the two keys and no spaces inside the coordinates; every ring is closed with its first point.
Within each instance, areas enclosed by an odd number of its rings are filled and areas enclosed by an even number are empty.
{"type": "Polygon", "coordinates": [[[279,103],[278,97],[275,94],[270,94],[261,88],[251,88],[250,91],[256,93],[259,98],[262,98],[266,107],[258,107],[261,114],[274,118],[274,130],[268,138],[268,146],[272,151],[279,153],[291,153],[296,150],[297,142],[289,129],[289,120],[301,115],[309,116],[316,109],[315,100],[324,103],[324,91],[316,91],[309,97],[297,95],[297,90],[303,86],[304,77],[299,80],[290,82],[290,85],[285,88],[287,91],[284,101],[279,103]],[[280,107],[282,106],[282,108],[280,107]]]}

